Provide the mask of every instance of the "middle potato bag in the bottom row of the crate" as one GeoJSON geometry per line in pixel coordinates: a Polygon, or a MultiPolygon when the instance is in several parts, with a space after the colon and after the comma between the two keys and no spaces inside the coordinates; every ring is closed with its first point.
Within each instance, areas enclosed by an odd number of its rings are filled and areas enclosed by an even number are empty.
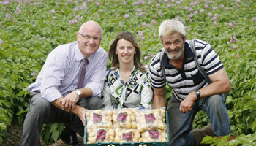
{"type": "Polygon", "coordinates": [[[124,143],[124,142],[138,142],[140,139],[140,133],[135,129],[115,129],[115,139],[114,142],[124,143]]]}

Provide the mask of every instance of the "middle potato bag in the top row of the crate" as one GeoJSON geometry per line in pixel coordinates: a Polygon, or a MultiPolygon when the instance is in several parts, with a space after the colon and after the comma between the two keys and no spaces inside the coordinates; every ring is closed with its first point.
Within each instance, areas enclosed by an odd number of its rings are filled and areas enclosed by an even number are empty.
{"type": "Polygon", "coordinates": [[[137,128],[135,109],[114,110],[112,118],[115,128],[137,128]]]}

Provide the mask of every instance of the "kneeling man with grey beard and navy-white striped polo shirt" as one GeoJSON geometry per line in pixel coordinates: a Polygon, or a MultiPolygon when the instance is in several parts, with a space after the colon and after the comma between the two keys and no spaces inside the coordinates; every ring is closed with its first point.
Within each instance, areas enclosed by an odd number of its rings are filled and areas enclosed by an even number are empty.
{"type": "Polygon", "coordinates": [[[152,58],[149,74],[154,88],[154,108],[165,108],[165,83],[172,88],[172,98],[167,104],[170,145],[199,145],[206,135],[230,134],[225,106],[230,81],[211,45],[195,39],[193,53],[184,25],[178,20],[162,22],[159,39],[164,48],[152,58]],[[209,84],[197,69],[195,56],[212,83],[209,84]],[[200,110],[207,113],[211,125],[192,130],[193,120],[200,110]]]}

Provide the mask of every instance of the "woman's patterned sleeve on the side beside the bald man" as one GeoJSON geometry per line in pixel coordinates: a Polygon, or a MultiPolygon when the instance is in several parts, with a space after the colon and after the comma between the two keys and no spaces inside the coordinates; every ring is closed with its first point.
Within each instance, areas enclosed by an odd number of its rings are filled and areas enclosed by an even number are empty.
{"type": "Polygon", "coordinates": [[[110,86],[108,85],[108,74],[106,74],[105,77],[105,83],[102,91],[102,101],[105,107],[113,107],[111,102],[110,86]]]}

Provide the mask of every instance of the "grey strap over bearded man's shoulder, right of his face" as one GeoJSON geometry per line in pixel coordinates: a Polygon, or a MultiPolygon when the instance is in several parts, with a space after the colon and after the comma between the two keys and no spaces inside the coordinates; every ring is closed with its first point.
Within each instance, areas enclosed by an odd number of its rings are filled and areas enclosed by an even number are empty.
{"type": "Polygon", "coordinates": [[[194,39],[189,40],[189,44],[192,48],[193,53],[195,54],[194,60],[195,60],[195,64],[197,65],[197,69],[199,70],[199,72],[203,75],[203,77],[206,79],[206,81],[208,82],[208,84],[211,84],[211,79],[208,76],[208,74],[206,74],[206,71],[202,68],[202,66],[200,66],[198,60],[197,60],[197,53],[195,51],[195,41],[194,39]]]}

